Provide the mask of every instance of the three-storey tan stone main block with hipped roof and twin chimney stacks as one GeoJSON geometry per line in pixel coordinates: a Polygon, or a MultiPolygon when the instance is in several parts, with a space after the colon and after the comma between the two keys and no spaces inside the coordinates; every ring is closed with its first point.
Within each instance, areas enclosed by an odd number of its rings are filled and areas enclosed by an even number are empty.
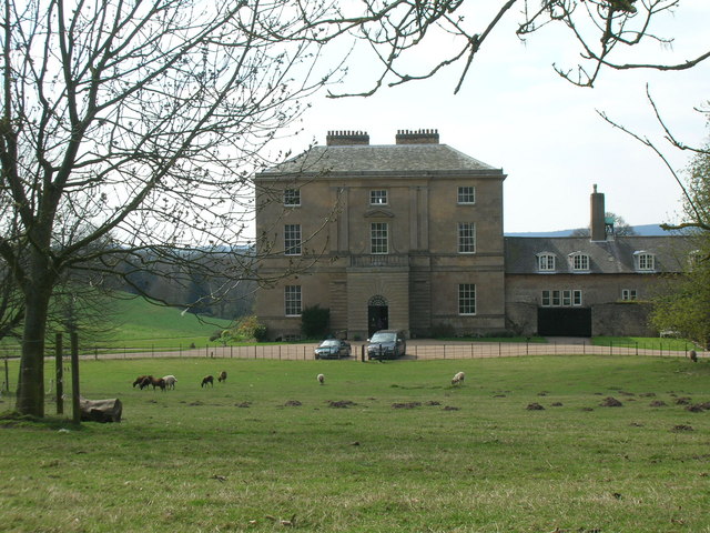
{"type": "Polygon", "coordinates": [[[298,335],[286,286],[300,288],[302,309],[329,309],[332,330],[349,339],[383,328],[409,336],[438,324],[459,334],[505,328],[505,174],[432,130],[396,140],[369,145],[366,133],[331,132],[326,147],[256,175],[258,247],[273,252],[260,275],[275,280],[260,289],[256,314],[270,336],[298,335]],[[298,204],[284,205],[293,191],[298,204]],[[301,251],[286,254],[294,227],[301,251]]]}

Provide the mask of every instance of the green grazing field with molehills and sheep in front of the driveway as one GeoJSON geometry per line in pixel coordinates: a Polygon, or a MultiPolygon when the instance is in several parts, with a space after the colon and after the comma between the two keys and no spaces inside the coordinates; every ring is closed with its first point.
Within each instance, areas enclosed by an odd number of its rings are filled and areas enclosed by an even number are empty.
{"type": "Polygon", "coordinates": [[[707,362],[88,361],[81,378],[124,421],[0,422],[1,531],[710,532],[710,412],[679,403],[710,401],[707,362]],[[132,389],[143,373],[176,390],[132,389]]]}

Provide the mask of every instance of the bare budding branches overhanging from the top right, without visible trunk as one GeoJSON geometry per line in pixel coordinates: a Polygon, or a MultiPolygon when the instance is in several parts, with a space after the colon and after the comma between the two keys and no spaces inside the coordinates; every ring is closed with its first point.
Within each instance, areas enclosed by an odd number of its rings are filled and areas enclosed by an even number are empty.
{"type": "MultiPolygon", "coordinates": [[[[371,49],[379,69],[369,69],[375,78],[365,80],[369,82],[365,90],[332,93],[335,98],[369,95],[381,87],[432,78],[449,67],[460,71],[454,90],[458,92],[485,41],[508,18],[515,18],[521,40],[546,27],[566,29],[569,40],[560,42],[560,49],[576,48],[579,61],[554,64],[554,69],[579,87],[594,87],[604,70],[680,71],[710,58],[708,43],[701,43],[691,58],[677,62],[648,61],[642,53],[630,53],[647,42],[672,44],[673,36],[653,32],[651,22],[681,9],[681,0],[365,0],[362,4],[367,8],[363,13],[326,22],[357,36],[371,49]],[[442,38],[446,44],[439,40],[437,46],[436,40],[442,38]],[[436,47],[429,63],[417,57],[427,43],[436,47]],[[639,59],[635,61],[635,57],[639,59]]],[[[322,26],[320,22],[318,29],[322,26]]]]}

